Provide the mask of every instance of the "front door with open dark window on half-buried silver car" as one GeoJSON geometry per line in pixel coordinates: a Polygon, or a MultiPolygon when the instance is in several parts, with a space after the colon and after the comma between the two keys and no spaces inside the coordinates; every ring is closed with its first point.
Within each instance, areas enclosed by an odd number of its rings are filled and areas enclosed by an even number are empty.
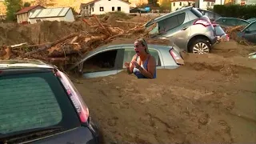
{"type": "Polygon", "coordinates": [[[84,78],[98,78],[118,73],[118,58],[120,58],[121,47],[111,50],[103,49],[96,54],[86,57],[82,64],[84,78]]]}

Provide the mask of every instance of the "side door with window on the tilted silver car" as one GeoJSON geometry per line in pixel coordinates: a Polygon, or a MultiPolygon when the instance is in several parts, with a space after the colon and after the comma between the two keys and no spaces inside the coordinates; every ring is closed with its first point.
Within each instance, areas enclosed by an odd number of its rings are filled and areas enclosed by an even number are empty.
{"type": "Polygon", "coordinates": [[[186,12],[176,14],[158,22],[158,31],[162,39],[170,39],[181,49],[186,49],[187,36],[190,35],[190,19],[186,12]]]}

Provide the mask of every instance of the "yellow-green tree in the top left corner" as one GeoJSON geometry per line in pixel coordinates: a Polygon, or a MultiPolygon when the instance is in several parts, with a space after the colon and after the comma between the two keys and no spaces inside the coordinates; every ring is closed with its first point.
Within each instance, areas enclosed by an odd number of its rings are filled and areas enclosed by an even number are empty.
{"type": "Polygon", "coordinates": [[[15,14],[22,8],[22,0],[6,0],[6,19],[14,21],[16,19],[15,14]]]}

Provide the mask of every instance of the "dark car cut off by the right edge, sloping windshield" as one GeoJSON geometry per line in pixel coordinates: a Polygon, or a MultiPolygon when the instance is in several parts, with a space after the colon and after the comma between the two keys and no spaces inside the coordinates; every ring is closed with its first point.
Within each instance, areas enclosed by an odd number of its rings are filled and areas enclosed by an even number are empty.
{"type": "Polygon", "coordinates": [[[256,43],[256,21],[251,22],[243,30],[237,33],[238,38],[245,38],[248,42],[256,43]]]}

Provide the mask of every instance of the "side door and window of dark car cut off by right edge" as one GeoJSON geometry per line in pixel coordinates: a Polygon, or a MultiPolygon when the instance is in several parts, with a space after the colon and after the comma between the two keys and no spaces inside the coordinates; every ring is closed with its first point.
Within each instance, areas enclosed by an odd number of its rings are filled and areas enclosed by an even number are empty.
{"type": "Polygon", "coordinates": [[[246,38],[247,41],[256,43],[256,22],[251,23],[242,33],[242,37],[246,38]]]}

